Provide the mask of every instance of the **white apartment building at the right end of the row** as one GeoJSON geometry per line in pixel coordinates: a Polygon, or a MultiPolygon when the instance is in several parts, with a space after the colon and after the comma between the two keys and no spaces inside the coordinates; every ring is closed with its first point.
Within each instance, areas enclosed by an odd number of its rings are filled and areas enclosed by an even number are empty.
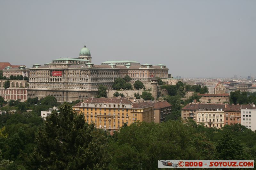
{"type": "Polygon", "coordinates": [[[256,108],[255,105],[242,105],[241,125],[252,131],[256,130],[256,108]]]}

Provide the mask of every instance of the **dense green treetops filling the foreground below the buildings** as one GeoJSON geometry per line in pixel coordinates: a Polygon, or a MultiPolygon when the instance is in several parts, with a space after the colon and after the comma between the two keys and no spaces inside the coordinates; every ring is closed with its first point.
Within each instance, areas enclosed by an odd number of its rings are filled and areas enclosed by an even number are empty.
{"type": "Polygon", "coordinates": [[[166,158],[255,160],[256,132],[241,124],[216,129],[183,122],[180,96],[164,98],[172,104],[165,122],[124,123],[112,137],[85,123],[70,104],[43,122],[41,110],[51,106],[19,102],[32,112],[0,115],[0,169],[155,169],[155,160],[166,158]]]}

